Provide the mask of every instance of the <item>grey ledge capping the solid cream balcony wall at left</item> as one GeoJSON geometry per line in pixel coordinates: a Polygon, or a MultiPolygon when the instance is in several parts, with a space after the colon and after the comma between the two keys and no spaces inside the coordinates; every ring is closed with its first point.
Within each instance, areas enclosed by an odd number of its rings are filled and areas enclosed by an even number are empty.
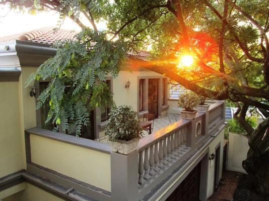
{"type": "Polygon", "coordinates": [[[109,153],[109,154],[112,151],[110,145],[107,143],[102,143],[102,142],[89,140],[85,138],[79,138],[79,137],[75,137],[75,136],[71,136],[71,135],[67,135],[63,133],[58,133],[58,132],[53,132],[53,131],[40,129],[40,128],[28,129],[26,130],[26,134],[38,135],[45,138],[50,138],[53,140],[58,140],[61,142],[74,144],[77,146],[86,147],[89,149],[94,149],[94,150],[109,153]]]}

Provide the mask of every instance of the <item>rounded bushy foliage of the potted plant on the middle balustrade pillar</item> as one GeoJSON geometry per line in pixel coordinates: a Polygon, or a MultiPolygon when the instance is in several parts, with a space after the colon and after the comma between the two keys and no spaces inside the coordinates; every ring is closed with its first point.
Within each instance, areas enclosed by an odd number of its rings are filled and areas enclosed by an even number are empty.
{"type": "Polygon", "coordinates": [[[199,100],[196,93],[189,91],[178,96],[177,105],[180,108],[185,109],[185,111],[192,112],[196,105],[198,105],[199,100]]]}

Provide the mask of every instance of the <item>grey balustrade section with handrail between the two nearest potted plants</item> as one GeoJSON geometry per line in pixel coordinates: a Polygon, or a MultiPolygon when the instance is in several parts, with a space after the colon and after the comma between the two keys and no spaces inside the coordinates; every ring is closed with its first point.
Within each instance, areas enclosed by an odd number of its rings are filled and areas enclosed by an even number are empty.
{"type": "MultiPolygon", "coordinates": [[[[160,130],[158,133],[150,135],[149,137],[153,136],[156,138],[154,144],[147,143],[151,141],[152,138],[141,139],[138,146],[140,185],[144,185],[159,174],[162,174],[165,169],[190,149],[190,147],[186,146],[186,135],[188,131],[186,127],[188,124],[189,122],[185,124],[183,124],[182,121],[176,122],[171,125],[171,131],[162,133],[163,130],[160,130]],[[162,135],[160,135],[161,133],[162,135]],[[160,135],[160,137],[158,137],[158,135],[160,135]],[[146,145],[141,146],[144,143],[146,145]],[[149,150],[151,151],[149,152],[149,150]],[[149,171],[150,169],[151,171],[149,171]]],[[[164,130],[168,131],[168,128],[164,130]]]]}

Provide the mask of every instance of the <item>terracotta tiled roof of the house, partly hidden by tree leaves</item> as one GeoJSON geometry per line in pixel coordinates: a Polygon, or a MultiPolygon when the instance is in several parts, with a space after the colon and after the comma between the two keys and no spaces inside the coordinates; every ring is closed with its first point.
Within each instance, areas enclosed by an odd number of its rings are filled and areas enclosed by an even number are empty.
{"type": "MultiPolygon", "coordinates": [[[[0,42],[10,41],[10,40],[21,40],[21,41],[31,41],[40,44],[53,45],[56,41],[74,39],[79,32],[59,29],[54,31],[52,27],[46,27],[38,30],[33,30],[29,32],[14,34],[11,36],[5,36],[0,38],[0,42]]],[[[128,55],[137,57],[148,57],[150,54],[147,51],[128,52],[128,55]]]]}

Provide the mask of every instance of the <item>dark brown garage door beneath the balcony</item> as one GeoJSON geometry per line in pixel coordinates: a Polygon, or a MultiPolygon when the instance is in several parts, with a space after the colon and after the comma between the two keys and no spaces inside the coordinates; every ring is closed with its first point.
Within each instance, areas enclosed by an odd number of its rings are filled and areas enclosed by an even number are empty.
{"type": "Polygon", "coordinates": [[[201,162],[188,174],[166,201],[198,201],[201,162]]]}

